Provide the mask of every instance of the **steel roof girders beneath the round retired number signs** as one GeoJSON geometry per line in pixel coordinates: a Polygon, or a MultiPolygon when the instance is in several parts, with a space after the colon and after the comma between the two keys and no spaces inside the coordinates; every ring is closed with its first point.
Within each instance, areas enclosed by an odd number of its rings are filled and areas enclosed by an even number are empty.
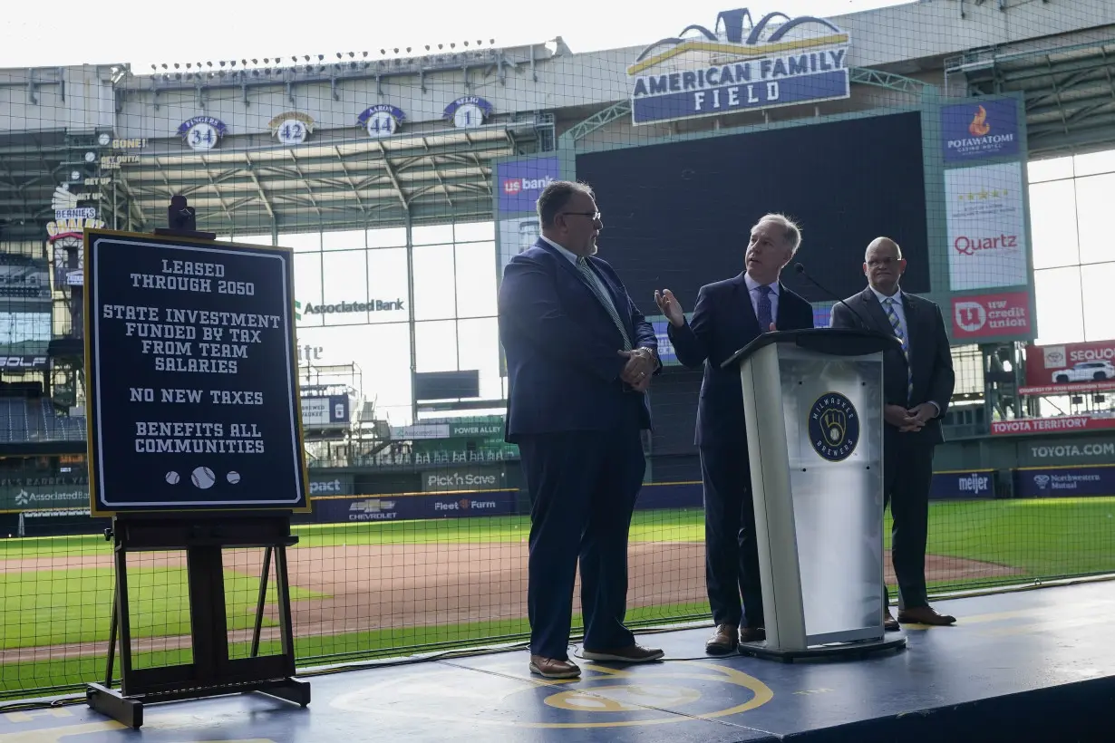
{"type": "MultiPolygon", "coordinates": [[[[198,227],[222,233],[386,226],[405,223],[408,213],[414,224],[489,218],[492,160],[518,154],[534,136],[523,129],[516,121],[398,139],[322,137],[295,148],[229,138],[206,153],[159,141],[138,164],[107,173],[114,183],[104,188],[101,212],[109,226],[149,229],[165,222],[171,196],[181,193],[198,227]]],[[[50,195],[65,179],[52,176],[69,167],[66,157],[66,148],[50,156],[0,146],[0,218],[48,217],[50,195]]]]}

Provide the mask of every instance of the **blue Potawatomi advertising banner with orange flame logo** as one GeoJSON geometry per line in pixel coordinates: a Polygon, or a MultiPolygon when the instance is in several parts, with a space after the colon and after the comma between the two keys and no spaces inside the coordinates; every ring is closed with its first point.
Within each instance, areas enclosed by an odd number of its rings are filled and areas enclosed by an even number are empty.
{"type": "Polygon", "coordinates": [[[944,163],[971,163],[1019,154],[1018,102],[972,100],[941,107],[944,163]]]}

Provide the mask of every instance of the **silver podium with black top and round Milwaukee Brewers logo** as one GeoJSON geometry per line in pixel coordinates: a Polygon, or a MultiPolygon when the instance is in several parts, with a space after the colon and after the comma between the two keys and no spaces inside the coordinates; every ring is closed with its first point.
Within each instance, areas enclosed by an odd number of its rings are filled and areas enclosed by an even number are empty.
{"type": "Polygon", "coordinates": [[[738,366],[766,641],[762,658],[865,656],[905,646],[883,608],[883,352],[875,331],[765,333],[738,366]]]}

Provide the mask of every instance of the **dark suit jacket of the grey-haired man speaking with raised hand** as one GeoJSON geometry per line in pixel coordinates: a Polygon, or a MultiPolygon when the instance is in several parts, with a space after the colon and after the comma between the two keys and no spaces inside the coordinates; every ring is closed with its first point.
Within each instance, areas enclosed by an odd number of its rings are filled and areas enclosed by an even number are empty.
{"type": "MultiPolygon", "coordinates": [[[[778,330],[813,327],[813,307],[779,282],[778,314],[774,322],[778,330]]],[[[746,450],[739,369],[720,369],[733,353],[767,330],[759,329],[744,274],[701,286],[692,321],[681,327],[672,324],[667,327],[678,361],[686,366],[705,365],[695,442],[698,447],[746,450]]]]}

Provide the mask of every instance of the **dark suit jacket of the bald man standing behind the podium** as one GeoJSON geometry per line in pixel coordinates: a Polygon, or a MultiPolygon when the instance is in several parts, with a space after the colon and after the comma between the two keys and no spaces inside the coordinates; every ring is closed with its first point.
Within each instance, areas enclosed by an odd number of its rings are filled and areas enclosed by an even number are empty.
{"type": "MultiPolygon", "coordinates": [[[[844,300],[844,304],[833,306],[833,327],[864,327],[894,335],[886,311],[871,287],[844,300]],[[850,310],[849,307],[852,307],[850,310]],[[870,322],[870,324],[865,324],[870,322]]],[[[917,433],[903,433],[915,440],[934,446],[944,441],[941,433],[941,417],[949,409],[956,374],[952,372],[952,352],[949,336],[944,331],[944,319],[935,303],[920,296],[902,292],[902,309],[905,313],[906,333],[910,341],[910,365],[913,368],[913,394],[906,402],[906,360],[902,349],[883,352],[883,402],[889,405],[912,408],[923,402],[935,402],[940,414],[928,421],[917,433]]],[[[898,429],[888,424],[888,433],[898,429]]]]}

